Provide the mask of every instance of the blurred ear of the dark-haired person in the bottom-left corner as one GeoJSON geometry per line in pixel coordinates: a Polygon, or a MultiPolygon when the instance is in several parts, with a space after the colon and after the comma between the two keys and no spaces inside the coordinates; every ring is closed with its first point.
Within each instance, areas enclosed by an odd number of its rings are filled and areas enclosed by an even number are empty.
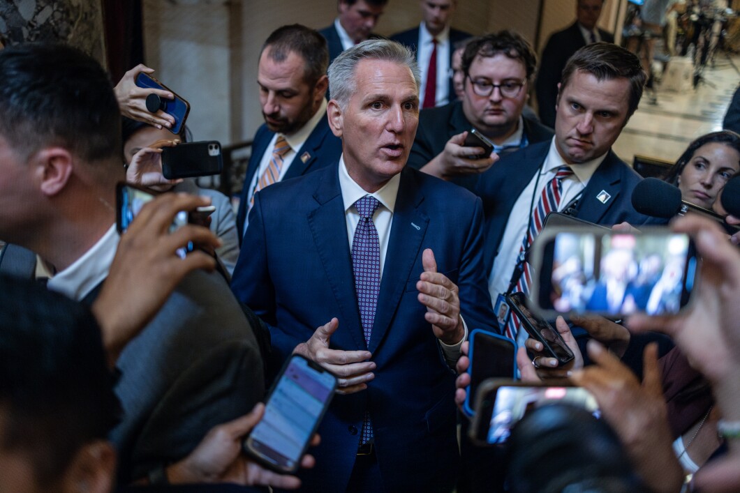
{"type": "Polygon", "coordinates": [[[115,450],[110,442],[86,443],[64,476],[64,492],[110,493],[115,484],[115,450]]]}

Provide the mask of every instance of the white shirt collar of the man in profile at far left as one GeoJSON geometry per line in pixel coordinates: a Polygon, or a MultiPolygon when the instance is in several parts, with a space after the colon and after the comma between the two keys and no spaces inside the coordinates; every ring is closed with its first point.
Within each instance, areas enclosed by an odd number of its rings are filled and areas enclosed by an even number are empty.
{"type": "Polygon", "coordinates": [[[108,276],[120,239],[114,224],[90,250],[49,279],[47,288],[72,299],[83,299],[108,276]]]}

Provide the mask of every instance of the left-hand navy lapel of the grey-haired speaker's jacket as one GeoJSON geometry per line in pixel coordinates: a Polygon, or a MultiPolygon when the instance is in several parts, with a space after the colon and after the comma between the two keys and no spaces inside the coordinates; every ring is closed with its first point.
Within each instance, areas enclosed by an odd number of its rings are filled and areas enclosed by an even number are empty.
{"type": "MultiPolygon", "coordinates": [[[[357,295],[354,290],[354,274],[349,242],[346,235],[344,204],[339,186],[337,168],[329,166],[323,173],[323,180],[314,193],[318,207],[308,215],[309,228],[313,235],[314,245],[326,273],[326,279],[337,300],[340,318],[343,322],[334,336],[342,349],[365,348],[365,336],[360,324],[360,310],[357,309],[357,295]],[[346,327],[349,324],[349,327],[346,327]],[[349,332],[354,344],[343,343],[343,334],[349,332]]],[[[327,321],[328,322],[328,321],[327,321]]]]}

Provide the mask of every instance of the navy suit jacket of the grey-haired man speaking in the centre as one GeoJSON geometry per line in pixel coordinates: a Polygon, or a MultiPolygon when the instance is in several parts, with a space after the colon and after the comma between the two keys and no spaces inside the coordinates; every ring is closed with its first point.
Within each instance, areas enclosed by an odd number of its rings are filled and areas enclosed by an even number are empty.
{"type": "MultiPolygon", "coordinates": [[[[457,475],[455,374],[425,322],[417,280],[422,252],[460,287],[472,330],[494,319],[482,270],[480,200],[443,180],[404,169],[393,215],[369,347],[363,338],[337,166],[269,186],[258,194],[232,279],[238,299],[272,325],[281,359],[332,317],[331,347],[369,350],[377,364],[368,389],[336,395],[323,418],[306,491],[344,492],[369,410],[387,491],[450,491],[457,475]],[[445,197],[444,201],[437,197],[445,197]]],[[[488,330],[491,330],[490,328],[488,330]]]]}

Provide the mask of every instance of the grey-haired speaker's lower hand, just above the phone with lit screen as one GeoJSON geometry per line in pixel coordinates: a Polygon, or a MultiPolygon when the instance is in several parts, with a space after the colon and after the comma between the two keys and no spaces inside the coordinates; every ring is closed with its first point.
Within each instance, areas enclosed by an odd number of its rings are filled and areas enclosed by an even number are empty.
{"type": "Polygon", "coordinates": [[[305,356],[316,361],[322,367],[339,377],[337,393],[351,394],[365,390],[366,382],[375,378],[372,370],[375,364],[368,361],[372,358],[369,351],[343,351],[329,349],[329,337],[337,331],[339,320],[332,319],[326,325],[316,329],[314,335],[306,342],[301,342],[295,347],[293,353],[305,356]]]}

